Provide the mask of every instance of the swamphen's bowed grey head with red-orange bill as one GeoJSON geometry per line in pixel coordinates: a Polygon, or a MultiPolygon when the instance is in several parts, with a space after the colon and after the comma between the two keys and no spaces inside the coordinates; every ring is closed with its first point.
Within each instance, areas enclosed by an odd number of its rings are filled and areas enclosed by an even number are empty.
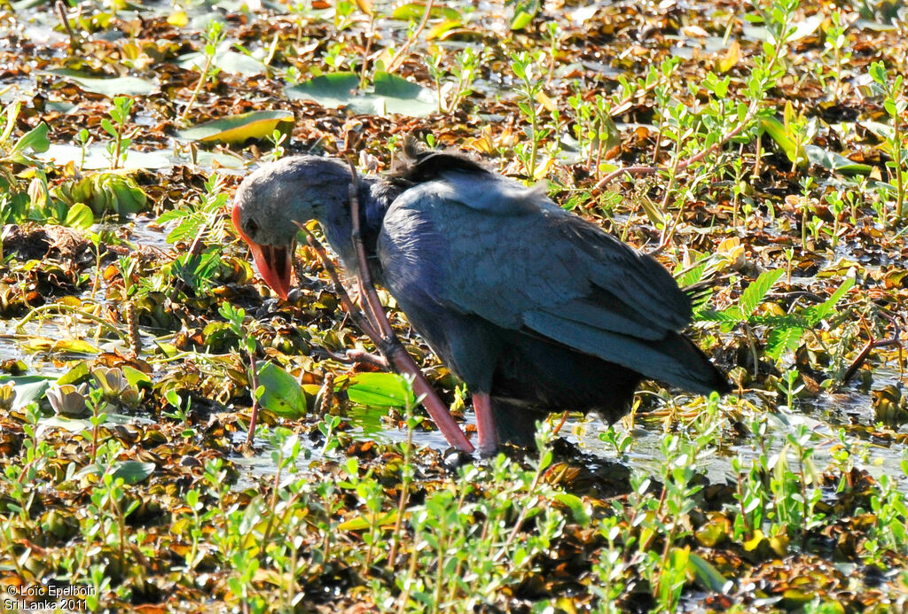
{"type": "Polygon", "coordinates": [[[297,224],[324,223],[346,205],[349,186],[343,162],[317,156],[285,158],[242,181],[233,199],[233,226],[249,244],[262,278],[281,297],[290,289],[297,224]]]}

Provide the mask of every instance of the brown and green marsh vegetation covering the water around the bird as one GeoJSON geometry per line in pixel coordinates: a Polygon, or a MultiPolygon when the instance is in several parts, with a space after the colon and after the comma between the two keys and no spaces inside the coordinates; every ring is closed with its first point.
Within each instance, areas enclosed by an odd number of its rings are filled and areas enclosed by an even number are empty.
{"type": "Polygon", "coordinates": [[[6,596],[903,611],[906,10],[5,3],[6,596]],[[254,163],[386,171],[408,132],[654,253],[735,392],[649,382],[619,424],[566,407],[538,451],[441,452],[405,380],[338,360],[369,343],[317,255],[279,302],[228,214],[254,163]]]}

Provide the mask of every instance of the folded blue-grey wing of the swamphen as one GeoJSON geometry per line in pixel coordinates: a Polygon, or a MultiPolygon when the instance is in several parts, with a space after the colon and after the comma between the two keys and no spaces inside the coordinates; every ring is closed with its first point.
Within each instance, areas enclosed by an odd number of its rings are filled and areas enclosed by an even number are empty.
{"type": "Polygon", "coordinates": [[[402,251],[429,246],[405,258],[407,278],[447,308],[703,388],[702,374],[677,365],[674,331],[691,308],[671,275],[539,190],[446,173],[401,194],[383,232],[402,251]]]}

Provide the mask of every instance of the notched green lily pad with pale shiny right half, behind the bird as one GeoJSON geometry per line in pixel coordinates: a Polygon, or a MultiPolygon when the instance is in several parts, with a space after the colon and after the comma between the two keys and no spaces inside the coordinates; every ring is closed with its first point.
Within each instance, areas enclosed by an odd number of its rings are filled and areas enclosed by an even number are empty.
{"type": "Polygon", "coordinates": [[[360,77],[353,73],[331,73],[292,85],[284,93],[292,100],[311,100],[323,107],[347,108],[364,115],[397,113],[425,117],[439,108],[438,97],[419,83],[395,74],[375,74],[372,88],[359,89],[360,77]]]}

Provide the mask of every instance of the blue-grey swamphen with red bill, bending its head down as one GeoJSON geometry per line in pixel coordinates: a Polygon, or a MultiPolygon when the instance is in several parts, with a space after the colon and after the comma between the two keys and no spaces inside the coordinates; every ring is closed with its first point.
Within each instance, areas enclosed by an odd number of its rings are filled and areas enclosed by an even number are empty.
{"type": "MultiPolygon", "coordinates": [[[[466,157],[411,140],[404,153],[389,177],[360,180],[370,270],[466,383],[480,453],[531,442],[536,421],[555,411],[615,421],[643,377],[728,391],[725,375],[678,332],[690,301],[654,258],[466,157]]],[[[281,297],[295,222],[318,220],[343,265],[358,270],[350,181],[344,162],[315,156],[243,180],[233,223],[281,297]]]]}

